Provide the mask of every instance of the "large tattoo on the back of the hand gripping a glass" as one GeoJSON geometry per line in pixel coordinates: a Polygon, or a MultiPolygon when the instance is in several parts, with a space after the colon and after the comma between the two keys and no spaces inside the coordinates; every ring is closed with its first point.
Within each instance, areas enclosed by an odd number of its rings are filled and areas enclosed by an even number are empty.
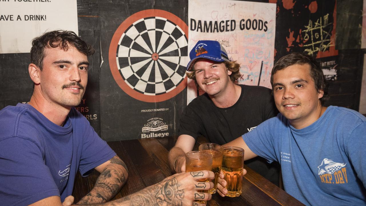
{"type": "Polygon", "coordinates": [[[178,190],[178,180],[176,178],[167,180],[163,186],[155,187],[156,203],[161,205],[177,205],[182,206],[184,191],[178,190]]]}

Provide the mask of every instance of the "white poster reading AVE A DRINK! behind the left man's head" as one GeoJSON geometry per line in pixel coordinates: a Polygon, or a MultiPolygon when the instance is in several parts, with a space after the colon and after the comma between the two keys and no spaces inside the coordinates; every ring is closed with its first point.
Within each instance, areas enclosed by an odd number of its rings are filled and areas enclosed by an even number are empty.
{"type": "Polygon", "coordinates": [[[75,0],[0,0],[0,54],[29,53],[34,37],[55,29],[78,34],[75,0]]]}

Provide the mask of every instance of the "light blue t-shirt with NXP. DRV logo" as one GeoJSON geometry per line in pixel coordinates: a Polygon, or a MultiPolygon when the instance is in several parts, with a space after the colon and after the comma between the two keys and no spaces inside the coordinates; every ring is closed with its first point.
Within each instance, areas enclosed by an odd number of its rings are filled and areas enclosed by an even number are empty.
{"type": "Polygon", "coordinates": [[[280,163],[285,191],[302,203],[366,205],[366,118],[358,112],[330,106],[303,129],[278,114],[243,140],[280,163]]]}

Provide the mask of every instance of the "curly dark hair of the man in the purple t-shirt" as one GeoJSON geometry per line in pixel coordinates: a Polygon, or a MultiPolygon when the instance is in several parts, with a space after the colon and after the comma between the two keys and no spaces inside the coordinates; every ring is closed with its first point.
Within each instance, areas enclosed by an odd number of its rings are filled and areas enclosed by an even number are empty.
{"type": "Polygon", "coordinates": [[[44,49],[60,47],[67,51],[68,45],[71,44],[79,52],[86,56],[93,55],[94,49],[85,41],[81,40],[74,32],[65,30],[55,30],[45,32],[39,37],[32,40],[32,48],[30,49],[30,62],[37,65],[42,70],[43,59],[45,58],[44,49]]]}

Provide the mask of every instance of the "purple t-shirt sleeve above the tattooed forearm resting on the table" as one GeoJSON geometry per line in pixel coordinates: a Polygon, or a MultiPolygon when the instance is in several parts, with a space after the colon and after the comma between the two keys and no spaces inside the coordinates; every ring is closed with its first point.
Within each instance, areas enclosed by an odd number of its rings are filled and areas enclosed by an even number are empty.
{"type": "Polygon", "coordinates": [[[89,170],[107,162],[116,155],[107,142],[98,136],[87,119],[84,120],[84,124],[86,129],[83,134],[83,149],[79,163],[79,172],[83,177],[89,175],[89,170]]]}

